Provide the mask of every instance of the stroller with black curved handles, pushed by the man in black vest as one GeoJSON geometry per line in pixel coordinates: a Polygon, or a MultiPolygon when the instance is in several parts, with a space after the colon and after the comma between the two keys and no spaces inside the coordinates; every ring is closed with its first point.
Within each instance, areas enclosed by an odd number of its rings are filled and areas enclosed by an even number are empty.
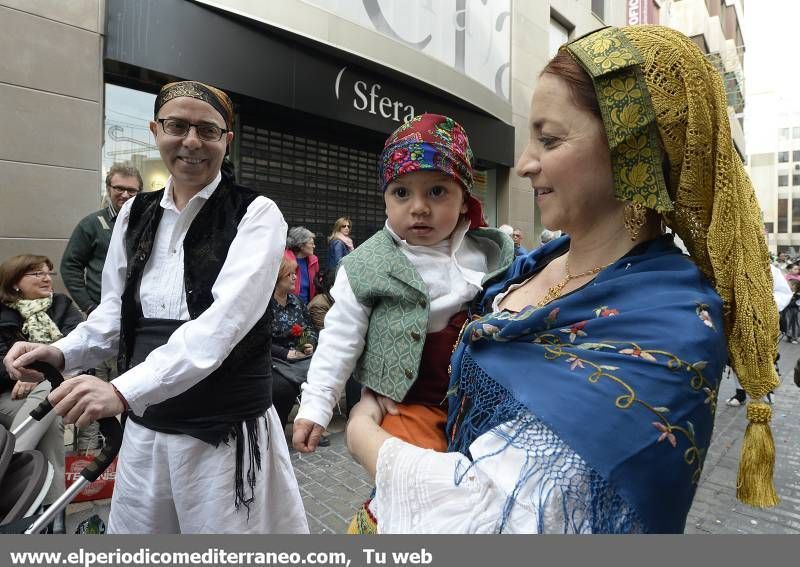
{"type": "MultiPolygon", "coordinates": [[[[64,381],[49,364],[36,362],[31,368],[44,374],[53,390],[64,381]]],[[[98,420],[105,440],[100,454],[81,471],[80,478],[58,500],[44,513],[36,515],[53,482],[53,466],[39,451],[14,453],[14,440],[15,435],[22,434],[34,420],[41,420],[52,409],[53,406],[45,399],[13,432],[0,427],[0,533],[40,533],[84,486],[103,474],[119,452],[122,444],[119,421],[115,417],[98,420]]]]}

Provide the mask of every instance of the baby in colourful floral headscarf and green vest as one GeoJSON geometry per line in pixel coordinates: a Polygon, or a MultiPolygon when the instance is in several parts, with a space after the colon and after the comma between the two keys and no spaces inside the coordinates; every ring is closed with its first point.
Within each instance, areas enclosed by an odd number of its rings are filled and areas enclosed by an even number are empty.
{"type": "Polygon", "coordinates": [[[388,218],[341,261],[294,421],[298,451],[317,447],[353,370],[398,404],[384,427],[447,447],[447,363],[465,306],[514,254],[510,238],[483,228],[473,162],[464,129],[437,114],[412,118],[386,141],[378,169],[388,218]]]}

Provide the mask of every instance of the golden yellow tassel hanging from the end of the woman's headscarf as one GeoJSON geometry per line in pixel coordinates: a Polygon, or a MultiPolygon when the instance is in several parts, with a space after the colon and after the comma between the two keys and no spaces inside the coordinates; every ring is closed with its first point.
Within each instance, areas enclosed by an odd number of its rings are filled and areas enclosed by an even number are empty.
{"type": "Polygon", "coordinates": [[[775,471],[775,441],[769,421],[772,408],[764,402],[747,404],[747,430],[744,432],[736,498],[759,508],[776,506],[780,501],[772,483],[775,471]]]}

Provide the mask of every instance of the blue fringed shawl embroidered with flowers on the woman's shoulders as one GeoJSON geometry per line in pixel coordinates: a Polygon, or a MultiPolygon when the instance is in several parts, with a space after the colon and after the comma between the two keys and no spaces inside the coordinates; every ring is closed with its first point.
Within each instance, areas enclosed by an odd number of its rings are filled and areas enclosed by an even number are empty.
{"type": "Polygon", "coordinates": [[[562,237],[519,257],[487,287],[479,310],[488,314],[464,329],[452,359],[450,450],[467,454],[478,436],[525,408],[616,491],[645,531],[682,533],[727,359],[722,302],[663,236],[542,308],[491,313],[509,282],[568,244],[562,237]],[[490,381],[478,390],[467,383],[476,380],[467,369],[475,364],[490,381]],[[474,395],[487,388],[497,395],[474,395]]]}

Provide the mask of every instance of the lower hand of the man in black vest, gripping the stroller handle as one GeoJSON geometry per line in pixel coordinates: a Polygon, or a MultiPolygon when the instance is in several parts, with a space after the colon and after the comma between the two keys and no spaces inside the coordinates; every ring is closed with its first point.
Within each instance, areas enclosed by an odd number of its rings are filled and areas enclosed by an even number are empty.
{"type": "Polygon", "coordinates": [[[53,404],[54,411],[64,417],[64,423],[74,423],[80,428],[125,411],[114,386],[85,374],[65,380],[47,398],[53,404]]]}

